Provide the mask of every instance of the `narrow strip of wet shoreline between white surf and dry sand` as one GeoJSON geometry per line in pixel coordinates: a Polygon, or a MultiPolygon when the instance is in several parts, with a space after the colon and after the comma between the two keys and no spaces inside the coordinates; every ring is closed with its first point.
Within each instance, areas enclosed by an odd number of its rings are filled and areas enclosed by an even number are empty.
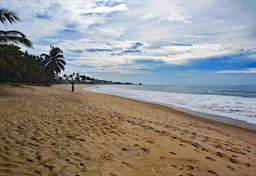
{"type": "Polygon", "coordinates": [[[104,94],[104,95],[115,96],[115,97],[124,98],[124,99],[128,99],[128,100],[150,103],[150,104],[154,104],[154,105],[160,105],[160,106],[164,106],[164,107],[167,107],[167,108],[170,108],[170,109],[173,109],[173,110],[177,110],[177,111],[186,113],[188,115],[192,115],[193,118],[199,118],[199,119],[203,119],[203,120],[210,120],[210,121],[222,123],[222,124],[225,124],[225,125],[231,125],[231,126],[239,127],[239,128],[242,128],[242,129],[256,131],[256,125],[255,124],[248,123],[248,122],[245,122],[245,121],[242,121],[242,120],[232,119],[232,118],[229,118],[229,117],[215,115],[215,114],[208,114],[208,113],[193,111],[193,110],[186,109],[186,108],[180,108],[180,107],[176,107],[176,106],[172,106],[172,105],[164,104],[164,103],[157,103],[157,102],[154,102],[154,101],[147,101],[147,100],[143,100],[143,99],[139,99],[139,98],[129,98],[129,97],[120,96],[120,95],[90,91],[89,88],[93,87],[93,86],[100,86],[100,85],[85,86],[84,88],[81,88],[81,90],[82,91],[89,91],[89,92],[92,92],[92,93],[99,93],[99,94],[104,94]]]}

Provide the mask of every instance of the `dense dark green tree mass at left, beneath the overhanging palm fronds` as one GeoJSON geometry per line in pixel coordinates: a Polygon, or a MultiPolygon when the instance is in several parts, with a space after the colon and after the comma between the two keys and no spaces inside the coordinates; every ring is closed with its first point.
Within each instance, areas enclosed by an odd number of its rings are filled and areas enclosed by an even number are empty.
{"type": "Polygon", "coordinates": [[[13,44],[0,45],[0,81],[44,83],[46,72],[39,56],[20,51],[13,44]]]}

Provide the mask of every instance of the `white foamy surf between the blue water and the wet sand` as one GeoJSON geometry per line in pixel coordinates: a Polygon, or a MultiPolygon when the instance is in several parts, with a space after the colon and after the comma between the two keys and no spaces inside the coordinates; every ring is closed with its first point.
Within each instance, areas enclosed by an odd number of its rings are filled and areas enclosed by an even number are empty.
{"type": "Polygon", "coordinates": [[[90,91],[118,95],[201,113],[229,117],[256,125],[256,98],[131,90],[120,86],[94,86],[90,91]]]}

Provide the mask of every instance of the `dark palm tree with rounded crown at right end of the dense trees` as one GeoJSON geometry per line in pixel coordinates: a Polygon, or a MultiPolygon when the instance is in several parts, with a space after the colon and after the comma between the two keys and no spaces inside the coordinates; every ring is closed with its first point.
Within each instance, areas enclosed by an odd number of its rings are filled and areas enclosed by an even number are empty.
{"type": "Polygon", "coordinates": [[[58,77],[58,74],[65,70],[66,62],[63,60],[63,51],[60,48],[51,45],[49,54],[44,53],[40,57],[43,59],[43,64],[51,79],[58,77]]]}

